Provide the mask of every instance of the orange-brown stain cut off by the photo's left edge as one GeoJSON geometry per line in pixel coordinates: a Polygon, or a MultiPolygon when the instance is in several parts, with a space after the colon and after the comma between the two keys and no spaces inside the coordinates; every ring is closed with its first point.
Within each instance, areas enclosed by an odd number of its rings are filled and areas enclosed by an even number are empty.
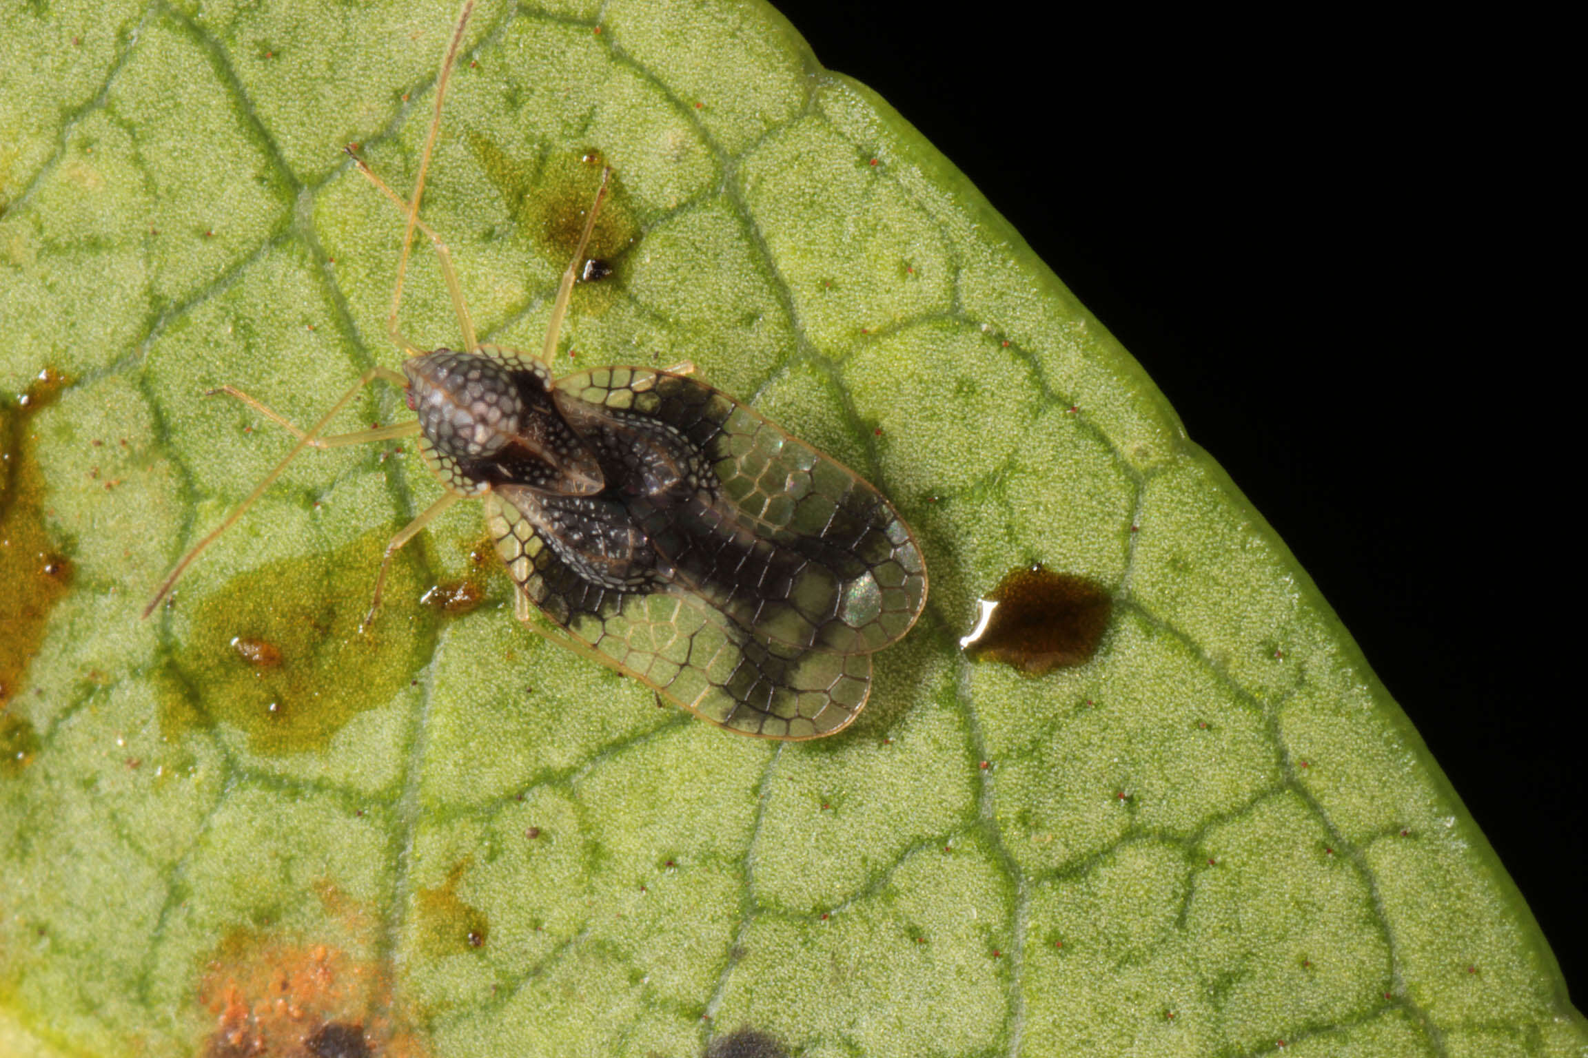
{"type": "Polygon", "coordinates": [[[33,416],[64,385],[46,370],[14,403],[0,398],[0,707],[22,690],[49,611],[71,584],[71,563],[44,528],[44,476],[33,458],[33,416]]]}

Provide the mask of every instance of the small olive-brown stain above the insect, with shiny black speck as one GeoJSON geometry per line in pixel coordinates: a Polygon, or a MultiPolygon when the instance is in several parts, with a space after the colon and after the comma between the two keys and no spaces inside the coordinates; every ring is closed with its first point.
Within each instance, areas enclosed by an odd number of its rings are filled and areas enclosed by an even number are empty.
{"type": "MultiPolygon", "coordinates": [[[[515,157],[478,132],[468,133],[468,146],[508,203],[519,230],[540,244],[559,273],[567,268],[600,187],[600,155],[594,151],[554,151],[545,160],[515,157]]],[[[613,171],[586,255],[610,265],[634,244],[638,233],[622,190],[622,173],[613,171]]]]}

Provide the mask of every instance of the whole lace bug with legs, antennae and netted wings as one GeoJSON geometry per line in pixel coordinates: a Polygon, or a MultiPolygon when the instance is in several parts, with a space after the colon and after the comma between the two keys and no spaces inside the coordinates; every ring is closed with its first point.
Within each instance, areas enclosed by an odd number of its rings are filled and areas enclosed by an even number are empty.
{"type": "Polygon", "coordinates": [[[904,636],[926,604],[926,566],[910,528],[877,489],[689,378],[689,366],[553,378],[608,170],[557,286],[540,355],[480,344],[451,254],[419,219],[472,8],[472,0],[464,5],[441,60],[413,198],[403,200],[348,148],[359,173],[407,214],[386,317],[407,357],[402,371],[365,371],[306,431],[232,385],[216,390],[299,441],[181,557],[145,617],[305,447],[418,435],[446,492],[386,546],[365,627],[397,549],[457,500],[480,498],[516,584],[515,615],[540,634],[732,731],[777,739],[838,731],[865,704],[872,654],[904,636]],[[435,247],[462,332],[459,351],[424,351],[397,327],[416,228],[435,247]],[[322,436],[376,381],[400,385],[418,419],[322,436]]]}

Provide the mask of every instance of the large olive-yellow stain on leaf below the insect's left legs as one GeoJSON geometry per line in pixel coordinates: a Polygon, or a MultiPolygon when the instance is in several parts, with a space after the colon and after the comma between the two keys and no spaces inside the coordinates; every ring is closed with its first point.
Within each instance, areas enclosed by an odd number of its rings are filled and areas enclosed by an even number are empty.
{"type": "Polygon", "coordinates": [[[399,552],[375,625],[359,630],[387,536],[375,530],[333,552],[267,563],[213,590],[202,571],[189,577],[170,614],[164,734],[219,723],[246,733],[256,753],[300,753],[389,704],[429,657],[435,617],[418,604],[418,573],[399,552]]]}

